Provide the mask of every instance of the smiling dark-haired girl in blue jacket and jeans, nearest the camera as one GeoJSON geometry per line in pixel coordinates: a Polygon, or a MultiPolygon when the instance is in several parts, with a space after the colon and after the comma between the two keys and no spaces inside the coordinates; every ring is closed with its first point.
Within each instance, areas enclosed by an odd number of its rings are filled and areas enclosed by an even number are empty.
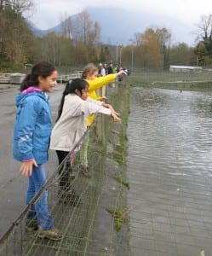
{"type": "MultiPolygon", "coordinates": [[[[49,62],[38,62],[20,85],[16,97],[14,121],[14,159],[22,162],[20,173],[28,177],[26,204],[46,183],[43,164],[48,160],[49,138],[52,129],[49,97],[57,84],[58,73],[49,62]]],[[[26,229],[37,230],[37,236],[60,240],[48,210],[48,191],[32,205],[26,216],[26,229]]]]}

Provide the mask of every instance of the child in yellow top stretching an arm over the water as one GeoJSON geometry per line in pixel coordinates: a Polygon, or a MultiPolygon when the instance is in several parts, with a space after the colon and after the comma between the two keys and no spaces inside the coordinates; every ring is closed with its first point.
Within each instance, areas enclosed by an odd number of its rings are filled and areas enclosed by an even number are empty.
{"type": "MultiPolygon", "coordinates": [[[[89,97],[101,101],[104,99],[104,96],[97,96],[96,90],[102,88],[106,84],[110,84],[113,82],[116,78],[121,77],[123,75],[126,75],[126,73],[121,70],[118,73],[112,73],[108,74],[104,77],[98,77],[98,68],[95,67],[93,63],[89,63],[86,67],[83,69],[82,73],[82,79],[86,79],[86,81],[89,83],[89,97]]],[[[95,115],[89,116],[87,119],[87,127],[89,128],[92,123],[94,122],[95,115]]],[[[89,172],[89,161],[88,161],[88,148],[89,148],[89,131],[85,137],[85,142],[82,145],[81,148],[81,162],[82,162],[82,171],[83,173],[90,177],[90,172],[89,172]]]]}

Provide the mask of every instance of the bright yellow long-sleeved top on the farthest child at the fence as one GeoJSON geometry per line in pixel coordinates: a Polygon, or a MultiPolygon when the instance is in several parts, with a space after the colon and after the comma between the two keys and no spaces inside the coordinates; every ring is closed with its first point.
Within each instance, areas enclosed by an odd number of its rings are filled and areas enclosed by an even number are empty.
{"type": "MultiPolygon", "coordinates": [[[[117,75],[112,73],[108,74],[105,77],[99,77],[94,80],[87,80],[89,83],[89,97],[94,100],[100,100],[100,97],[97,96],[96,90],[100,89],[101,87],[105,86],[106,84],[110,84],[112,81],[116,79],[117,75]]],[[[95,114],[92,114],[87,119],[87,126],[92,125],[95,119],[95,114]]]]}

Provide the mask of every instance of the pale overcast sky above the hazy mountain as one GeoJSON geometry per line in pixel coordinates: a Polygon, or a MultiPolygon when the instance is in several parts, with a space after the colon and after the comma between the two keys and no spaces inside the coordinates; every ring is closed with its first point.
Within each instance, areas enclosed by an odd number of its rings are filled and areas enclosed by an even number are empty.
{"type": "Polygon", "coordinates": [[[30,20],[40,29],[49,29],[60,23],[63,15],[75,15],[87,7],[118,7],[150,14],[175,17],[194,26],[201,15],[212,14],[211,0],[34,0],[36,9],[30,20]]]}

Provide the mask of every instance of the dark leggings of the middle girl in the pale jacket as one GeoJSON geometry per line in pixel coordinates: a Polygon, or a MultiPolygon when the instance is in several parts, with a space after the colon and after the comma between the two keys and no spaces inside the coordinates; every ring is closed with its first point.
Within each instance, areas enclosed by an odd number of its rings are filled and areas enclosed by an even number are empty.
{"type": "MultiPolygon", "coordinates": [[[[66,158],[68,151],[60,151],[56,150],[56,154],[58,157],[59,165],[66,158]]],[[[60,175],[60,189],[69,190],[70,189],[70,174],[72,173],[72,168],[70,164],[70,160],[66,160],[64,164],[60,167],[59,175],[60,175]]]]}

